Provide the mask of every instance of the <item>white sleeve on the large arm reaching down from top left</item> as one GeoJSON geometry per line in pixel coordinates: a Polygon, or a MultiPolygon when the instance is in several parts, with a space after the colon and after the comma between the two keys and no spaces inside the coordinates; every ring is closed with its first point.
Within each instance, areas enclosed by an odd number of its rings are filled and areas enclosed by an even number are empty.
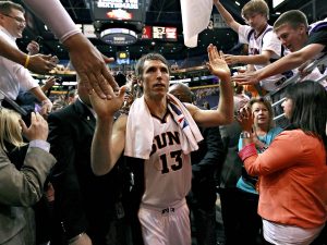
{"type": "Polygon", "coordinates": [[[61,42],[81,33],[59,0],[25,0],[24,2],[45,22],[61,42]]]}

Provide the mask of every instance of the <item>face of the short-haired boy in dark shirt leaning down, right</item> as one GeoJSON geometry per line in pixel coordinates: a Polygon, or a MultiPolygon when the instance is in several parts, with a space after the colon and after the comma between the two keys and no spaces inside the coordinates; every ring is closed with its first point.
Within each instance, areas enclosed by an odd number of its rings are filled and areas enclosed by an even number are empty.
{"type": "Polygon", "coordinates": [[[305,41],[303,34],[305,35],[305,32],[302,26],[293,28],[289,24],[284,24],[276,30],[278,39],[291,52],[298,51],[303,47],[305,41]]]}

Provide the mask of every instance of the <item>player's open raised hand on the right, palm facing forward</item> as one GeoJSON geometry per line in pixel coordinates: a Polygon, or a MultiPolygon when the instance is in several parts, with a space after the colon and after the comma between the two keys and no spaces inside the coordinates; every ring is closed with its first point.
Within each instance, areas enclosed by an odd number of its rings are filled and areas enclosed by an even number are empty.
{"type": "Polygon", "coordinates": [[[223,81],[230,77],[230,70],[225,61],[223,53],[218,52],[217,47],[211,44],[208,46],[207,51],[209,58],[207,66],[210,73],[223,81]]]}

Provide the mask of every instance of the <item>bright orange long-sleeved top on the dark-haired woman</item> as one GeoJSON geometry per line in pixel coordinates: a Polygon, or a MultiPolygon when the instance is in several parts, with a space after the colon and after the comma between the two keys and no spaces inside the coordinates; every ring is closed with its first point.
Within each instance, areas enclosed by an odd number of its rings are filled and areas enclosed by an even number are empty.
{"type": "Polygon", "coordinates": [[[326,222],[326,150],[316,137],[301,130],[283,131],[265,152],[246,158],[244,167],[261,176],[262,218],[306,229],[326,222]]]}

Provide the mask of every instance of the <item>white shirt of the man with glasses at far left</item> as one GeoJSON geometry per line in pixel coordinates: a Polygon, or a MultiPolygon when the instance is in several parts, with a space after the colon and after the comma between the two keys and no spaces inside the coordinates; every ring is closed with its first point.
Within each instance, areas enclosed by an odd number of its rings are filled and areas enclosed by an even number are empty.
{"type": "MultiPolygon", "coordinates": [[[[15,38],[0,26],[0,38],[19,49],[15,38]]],[[[38,83],[23,65],[0,57],[0,89],[11,99],[15,100],[20,90],[27,91],[37,87],[38,83]]]]}

